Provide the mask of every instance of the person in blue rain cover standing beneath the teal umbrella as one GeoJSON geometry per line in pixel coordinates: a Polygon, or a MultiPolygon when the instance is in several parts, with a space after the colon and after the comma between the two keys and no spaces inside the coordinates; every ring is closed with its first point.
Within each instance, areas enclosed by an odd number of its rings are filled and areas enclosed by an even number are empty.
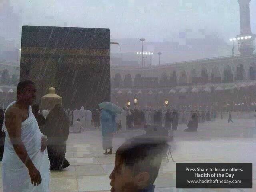
{"type": "Polygon", "coordinates": [[[113,134],[116,132],[116,113],[110,110],[102,109],[101,126],[102,126],[102,148],[106,154],[112,153],[113,134]],[[108,152],[108,149],[110,151],[108,152]]]}

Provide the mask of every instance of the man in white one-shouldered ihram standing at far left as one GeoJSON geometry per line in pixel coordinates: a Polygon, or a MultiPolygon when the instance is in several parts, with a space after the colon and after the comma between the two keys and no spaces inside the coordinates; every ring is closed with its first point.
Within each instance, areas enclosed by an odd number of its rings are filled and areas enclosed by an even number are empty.
{"type": "Polygon", "coordinates": [[[20,82],[17,87],[17,101],[12,102],[4,114],[4,192],[50,191],[47,137],[40,132],[31,110],[35,98],[34,82],[20,82]]]}

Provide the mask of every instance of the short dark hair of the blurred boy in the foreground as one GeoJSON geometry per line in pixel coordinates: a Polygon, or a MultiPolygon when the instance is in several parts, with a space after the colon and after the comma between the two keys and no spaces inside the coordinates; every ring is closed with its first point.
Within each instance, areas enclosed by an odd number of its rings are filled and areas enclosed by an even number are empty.
{"type": "Polygon", "coordinates": [[[167,150],[168,144],[165,139],[138,136],[122,144],[116,151],[116,156],[120,157],[123,167],[132,170],[134,176],[148,172],[148,184],[153,184],[167,150]]]}

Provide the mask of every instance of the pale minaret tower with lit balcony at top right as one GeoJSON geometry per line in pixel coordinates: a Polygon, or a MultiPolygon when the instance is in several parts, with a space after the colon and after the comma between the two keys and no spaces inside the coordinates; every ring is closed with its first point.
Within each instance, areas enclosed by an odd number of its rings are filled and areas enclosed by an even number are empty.
{"type": "Polygon", "coordinates": [[[252,54],[254,51],[255,35],[251,31],[250,23],[250,1],[238,0],[240,7],[240,35],[236,36],[238,40],[238,50],[243,55],[252,54]]]}

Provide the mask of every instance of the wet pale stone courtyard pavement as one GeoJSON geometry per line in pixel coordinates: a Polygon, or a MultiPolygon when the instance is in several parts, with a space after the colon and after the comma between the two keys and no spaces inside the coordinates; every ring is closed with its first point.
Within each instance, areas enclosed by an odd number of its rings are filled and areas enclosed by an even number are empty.
{"type": "MultiPolygon", "coordinates": [[[[218,120],[199,124],[198,132],[183,132],[179,125],[174,132],[172,155],[176,162],[252,162],[253,184],[256,184],[256,128],[255,120],[235,120],[228,124],[218,120]]],[[[143,130],[118,133],[113,139],[116,152],[126,138],[144,134],[143,130]]],[[[172,134],[172,133],[171,133],[172,134]]],[[[115,155],[104,155],[99,130],[70,134],[66,158],[70,166],[62,172],[51,171],[52,192],[105,192],[110,191],[108,176],[114,168],[115,155]]],[[[253,189],[176,189],[176,162],[163,159],[156,192],[256,192],[253,189]]],[[[2,180],[0,180],[2,189],[2,180]]],[[[2,191],[2,190],[1,190],[2,191]]]]}

